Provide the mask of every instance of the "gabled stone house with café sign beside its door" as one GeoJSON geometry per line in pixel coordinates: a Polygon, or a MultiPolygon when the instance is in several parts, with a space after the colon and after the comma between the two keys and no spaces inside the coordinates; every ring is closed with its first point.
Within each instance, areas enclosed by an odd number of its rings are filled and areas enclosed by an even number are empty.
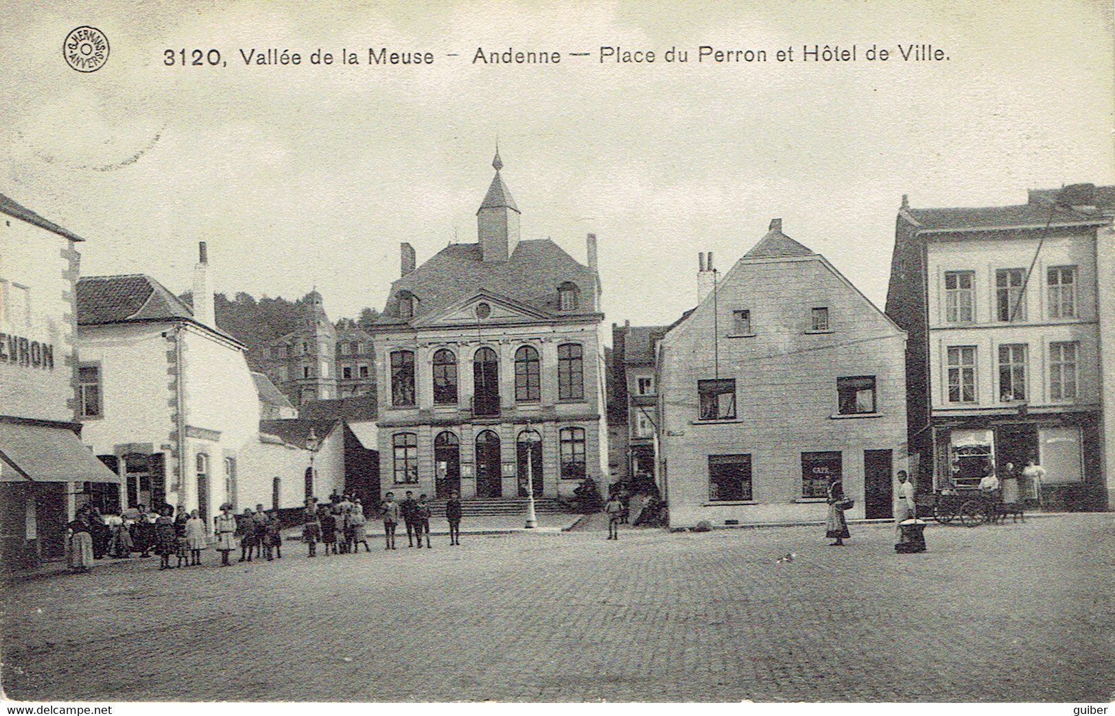
{"type": "Polygon", "coordinates": [[[658,344],[670,526],[889,517],[905,463],[905,335],[780,221],[658,344]]]}

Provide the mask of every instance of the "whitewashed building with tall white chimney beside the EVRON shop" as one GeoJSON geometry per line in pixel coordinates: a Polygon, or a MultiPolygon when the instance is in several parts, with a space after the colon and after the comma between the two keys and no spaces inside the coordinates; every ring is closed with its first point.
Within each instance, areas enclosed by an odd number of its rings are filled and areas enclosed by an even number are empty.
{"type": "Polygon", "coordinates": [[[120,476],[103,510],[184,505],[211,525],[224,502],[294,507],[307,488],[343,485],[342,471],[320,467],[306,484],[307,446],[261,433],[256,380],[244,345],[216,325],[200,249],[193,309],[148,275],[78,281],[78,419],[120,476]]]}

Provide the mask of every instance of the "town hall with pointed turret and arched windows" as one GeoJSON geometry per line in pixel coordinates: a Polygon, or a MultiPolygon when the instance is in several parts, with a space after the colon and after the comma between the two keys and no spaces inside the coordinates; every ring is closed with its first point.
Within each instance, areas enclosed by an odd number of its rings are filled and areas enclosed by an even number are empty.
{"type": "Polygon", "coordinates": [[[375,327],[381,492],[465,499],[569,496],[608,474],[595,236],[588,265],[550,239],[520,241],[500,174],[477,242],[401,277],[375,327]]]}

